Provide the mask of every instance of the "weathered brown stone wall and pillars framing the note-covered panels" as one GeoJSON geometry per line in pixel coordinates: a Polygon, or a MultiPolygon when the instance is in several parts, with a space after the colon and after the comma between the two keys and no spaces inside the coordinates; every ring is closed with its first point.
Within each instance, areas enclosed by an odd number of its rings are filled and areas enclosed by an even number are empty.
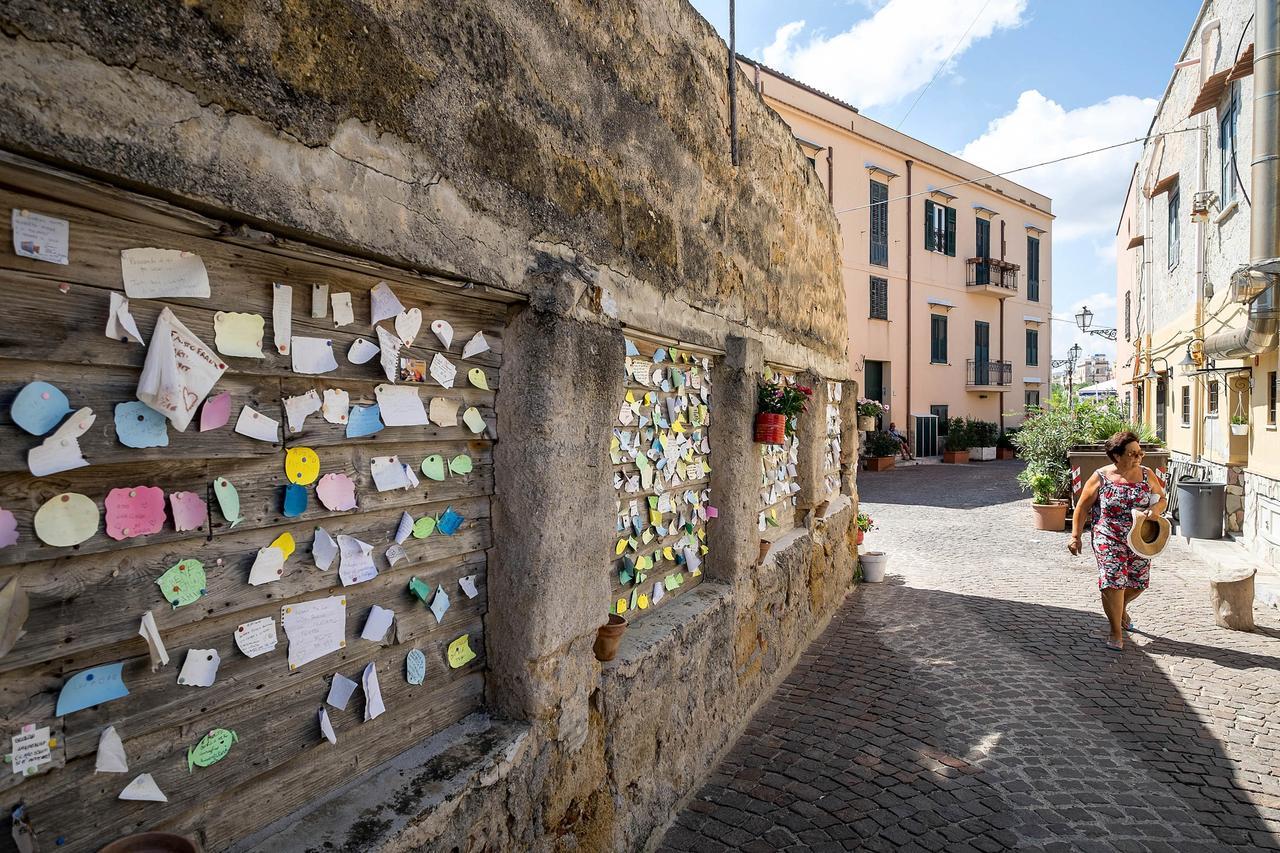
{"type": "MultiPolygon", "coordinates": [[[[836,218],[749,86],[730,161],[724,61],[685,0],[0,6],[0,147],[253,240],[524,300],[497,403],[498,721],[419,744],[317,802],[328,822],[300,815],[243,849],[305,849],[291,839],[306,833],[360,850],[643,847],[850,588],[856,457],[824,517],[801,482],[805,525],[758,560],[755,382],[767,361],[845,379],[847,325],[836,218]],[[721,517],[708,581],[602,667],[613,501],[596,415],[618,397],[626,325],[726,353],[721,517]]],[[[822,467],[813,384],[801,473],[822,467]]]]}

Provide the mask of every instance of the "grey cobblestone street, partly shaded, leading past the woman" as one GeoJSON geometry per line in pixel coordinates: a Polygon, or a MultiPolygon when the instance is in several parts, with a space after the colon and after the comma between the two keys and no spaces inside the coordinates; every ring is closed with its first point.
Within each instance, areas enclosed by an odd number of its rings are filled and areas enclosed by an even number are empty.
{"type": "Polygon", "coordinates": [[[1280,849],[1280,620],[1216,628],[1183,540],[1103,647],[1092,553],[1018,462],[859,474],[891,555],[663,850],[1280,849]]]}

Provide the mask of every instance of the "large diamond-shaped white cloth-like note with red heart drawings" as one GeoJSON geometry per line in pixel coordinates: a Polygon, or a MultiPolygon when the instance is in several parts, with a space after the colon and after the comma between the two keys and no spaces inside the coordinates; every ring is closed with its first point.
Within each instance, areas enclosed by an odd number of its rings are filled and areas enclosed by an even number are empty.
{"type": "Polygon", "coordinates": [[[137,397],[180,433],[224,370],[223,360],[165,307],[151,333],[137,397]]]}

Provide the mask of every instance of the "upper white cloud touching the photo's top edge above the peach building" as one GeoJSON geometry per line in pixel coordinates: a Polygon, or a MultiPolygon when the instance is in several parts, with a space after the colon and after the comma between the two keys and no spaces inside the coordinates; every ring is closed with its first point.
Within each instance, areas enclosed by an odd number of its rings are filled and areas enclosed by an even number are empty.
{"type": "Polygon", "coordinates": [[[814,32],[803,44],[805,22],[783,24],[763,59],[855,106],[892,104],[928,83],[952,49],[955,59],[1019,27],[1025,10],[1027,0],[888,0],[845,32],[814,32]]]}

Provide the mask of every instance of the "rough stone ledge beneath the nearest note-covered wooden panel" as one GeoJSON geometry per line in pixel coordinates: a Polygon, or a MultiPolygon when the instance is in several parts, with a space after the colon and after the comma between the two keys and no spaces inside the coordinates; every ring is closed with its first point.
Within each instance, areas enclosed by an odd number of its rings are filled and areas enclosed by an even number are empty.
{"type": "Polygon", "coordinates": [[[466,794],[506,780],[529,743],[527,725],[472,713],[241,839],[230,853],[383,849],[411,825],[443,825],[466,794]]]}

